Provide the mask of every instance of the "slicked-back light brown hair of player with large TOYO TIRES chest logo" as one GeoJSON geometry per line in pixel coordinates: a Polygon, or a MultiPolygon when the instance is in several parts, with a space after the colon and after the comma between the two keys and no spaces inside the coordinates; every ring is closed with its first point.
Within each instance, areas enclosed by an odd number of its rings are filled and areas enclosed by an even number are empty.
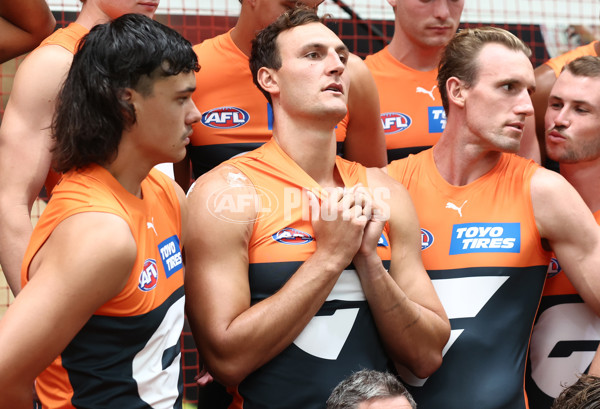
{"type": "Polygon", "coordinates": [[[527,57],[531,57],[531,49],[527,44],[509,31],[497,27],[460,30],[442,52],[438,65],[438,89],[446,114],[448,114],[448,93],[446,91],[448,79],[456,77],[467,87],[474,85],[479,68],[477,57],[483,47],[490,43],[501,44],[509,50],[521,51],[527,57]]]}

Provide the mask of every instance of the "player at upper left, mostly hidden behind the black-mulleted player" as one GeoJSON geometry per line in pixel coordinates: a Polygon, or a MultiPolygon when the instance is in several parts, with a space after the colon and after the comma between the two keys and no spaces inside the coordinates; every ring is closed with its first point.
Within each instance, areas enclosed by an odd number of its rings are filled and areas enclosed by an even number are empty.
{"type": "Polygon", "coordinates": [[[50,194],[59,178],[50,171],[50,123],[77,42],[98,23],[125,13],[153,17],[157,6],[158,0],[85,0],[77,20],[50,35],[17,70],[0,126],[0,265],[15,295],[31,207],[44,181],[50,194]]]}

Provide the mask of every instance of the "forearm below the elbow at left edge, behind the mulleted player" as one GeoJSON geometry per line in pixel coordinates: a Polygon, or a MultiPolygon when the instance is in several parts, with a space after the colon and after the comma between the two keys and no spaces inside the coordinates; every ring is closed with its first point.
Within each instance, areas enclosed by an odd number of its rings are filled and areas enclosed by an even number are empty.
{"type": "Polygon", "coordinates": [[[32,230],[26,205],[0,204],[0,265],[15,296],[21,290],[21,263],[32,230]]]}

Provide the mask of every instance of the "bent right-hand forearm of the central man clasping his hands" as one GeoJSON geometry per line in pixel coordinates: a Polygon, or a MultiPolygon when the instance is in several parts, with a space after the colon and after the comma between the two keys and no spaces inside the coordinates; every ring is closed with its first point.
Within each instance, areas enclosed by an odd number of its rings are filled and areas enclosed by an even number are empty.
{"type": "Polygon", "coordinates": [[[441,365],[449,322],[411,300],[377,259],[357,270],[381,339],[394,363],[427,377],[441,365]]]}

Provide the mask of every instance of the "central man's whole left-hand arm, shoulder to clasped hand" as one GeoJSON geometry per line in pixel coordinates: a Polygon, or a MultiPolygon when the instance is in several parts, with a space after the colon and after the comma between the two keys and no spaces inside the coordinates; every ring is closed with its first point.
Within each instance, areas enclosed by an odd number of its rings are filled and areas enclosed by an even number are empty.
{"type": "MultiPolygon", "coordinates": [[[[216,212],[211,197],[226,190],[229,203],[253,203],[237,200],[253,198],[256,192],[250,182],[241,185],[240,177],[228,184],[232,174],[241,176],[235,168],[219,166],[196,182],[189,194],[186,244],[188,319],[208,370],[225,385],[237,385],[293,342],[352,260],[366,224],[366,219],[341,216],[314,220],[316,251],[279,291],[251,305],[248,246],[256,210],[248,206],[216,212]]],[[[322,206],[335,208],[337,198],[331,200],[322,206]]],[[[352,203],[346,201],[343,207],[348,212],[352,203]]]]}

